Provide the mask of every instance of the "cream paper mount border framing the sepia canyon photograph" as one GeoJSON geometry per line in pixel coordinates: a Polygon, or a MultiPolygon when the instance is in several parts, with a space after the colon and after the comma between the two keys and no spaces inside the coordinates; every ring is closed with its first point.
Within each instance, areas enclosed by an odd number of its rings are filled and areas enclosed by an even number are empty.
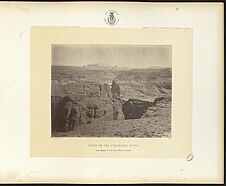
{"type": "MultiPolygon", "coordinates": [[[[130,66],[128,63],[127,66],[130,66]]],[[[55,157],[187,157],[192,153],[192,30],[31,28],[31,156],[55,157]],[[172,138],[52,138],[51,44],[172,46],[172,138]],[[40,73],[41,72],[41,73],[40,73]],[[99,152],[89,144],[138,144],[99,152]],[[72,148],[73,147],[73,148],[72,148]]],[[[108,149],[102,147],[101,149],[108,149]]]]}

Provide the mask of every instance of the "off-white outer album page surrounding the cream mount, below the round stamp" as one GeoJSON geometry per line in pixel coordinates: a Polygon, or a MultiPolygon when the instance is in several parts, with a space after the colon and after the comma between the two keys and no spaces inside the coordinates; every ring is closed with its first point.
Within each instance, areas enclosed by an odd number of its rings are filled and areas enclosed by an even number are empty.
{"type": "Polygon", "coordinates": [[[0,182],[222,183],[222,3],[1,3],[0,182]],[[193,29],[192,161],[185,158],[30,157],[30,27],[193,29]]]}

